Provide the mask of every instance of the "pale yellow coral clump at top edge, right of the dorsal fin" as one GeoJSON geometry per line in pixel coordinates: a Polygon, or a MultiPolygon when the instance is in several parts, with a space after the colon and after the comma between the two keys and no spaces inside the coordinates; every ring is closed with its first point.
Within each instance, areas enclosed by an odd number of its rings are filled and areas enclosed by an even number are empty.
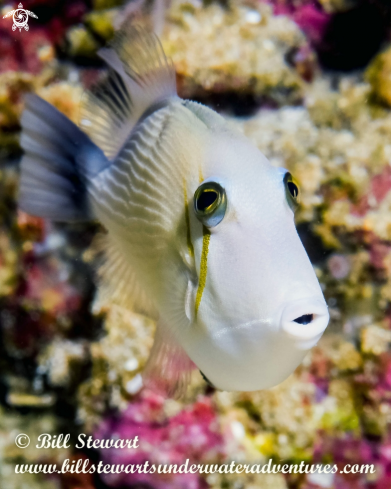
{"type": "Polygon", "coordinates": [[[285,55],[303,45],[304,36],[287,17],[272,16],[267,5],[179,5],[162,40],[187,97],[200,89],[244,90],[279,102],[302,96],[304,83],[285,55]]]}

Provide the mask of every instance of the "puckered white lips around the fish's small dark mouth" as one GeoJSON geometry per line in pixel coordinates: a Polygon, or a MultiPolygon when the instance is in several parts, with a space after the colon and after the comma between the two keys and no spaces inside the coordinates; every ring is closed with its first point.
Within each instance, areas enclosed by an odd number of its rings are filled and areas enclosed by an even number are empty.
{"type": "Polygon", "coordinates": [[[311,347],[307,343],[316,343],[322,336],[329,322],[329,312],[324,300],[319,297],[308,297],[289,302],[282,311],[280,327],[289,337],[303,342],[303,347],[311,347]],[[299,324],[295,319],[312,314],[308,324],[299,324]]]}

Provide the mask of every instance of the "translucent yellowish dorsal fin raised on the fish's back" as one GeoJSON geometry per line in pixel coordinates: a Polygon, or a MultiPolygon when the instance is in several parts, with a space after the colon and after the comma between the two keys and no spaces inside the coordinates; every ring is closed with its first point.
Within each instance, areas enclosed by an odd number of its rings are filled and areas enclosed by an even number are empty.
{"type": "Polygon", "coordinates": [[[99,51],[109,72],[84,97],[80,126],[113,161],[135,125],[175,97],[175,69],[155,36],[125,26],[99,51]]]}

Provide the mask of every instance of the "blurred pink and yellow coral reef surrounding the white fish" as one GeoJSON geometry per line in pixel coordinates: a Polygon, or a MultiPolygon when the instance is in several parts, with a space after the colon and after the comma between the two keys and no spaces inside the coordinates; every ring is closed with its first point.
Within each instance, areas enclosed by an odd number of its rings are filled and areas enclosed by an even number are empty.
{"type": "MultiPolygon", "coordinates": [[[[1,17],[14,4],[0,7],[1,17]]],[[[0,486],[7,489],[391,487],[391,7],[388,0],[25,0],[0,19],[0,486]],[[96,223],[16,208],[19,118],[36,92],[75,122],[97,49],[124,19],[159,33],[179,93],[210,105],[301,188],[296,214],[331,313],[269,391],[198,372],[180,401],[142,389],[153,321],[96,289],[96,223]],[[69,433],[70,448],[15,446],[69,433]],[[138,449],[75,449],[80,433],[138,449]],[[15,474],[16,464],[374,464],[368,474],[15,474]]],[[[261,191],[261,189],[260,189],[261,191]]]]}

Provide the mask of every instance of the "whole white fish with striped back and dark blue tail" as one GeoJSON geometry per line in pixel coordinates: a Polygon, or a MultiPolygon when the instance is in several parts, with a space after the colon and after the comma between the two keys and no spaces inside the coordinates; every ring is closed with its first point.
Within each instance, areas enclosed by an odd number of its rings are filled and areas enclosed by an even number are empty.
{"type": "Polygon", "coordinates": [[[272,387],[329,315],[297,235],[298,188],[211,109],[177,96],[157,38],[125,27],[81,129],[37,96],[22,116],[20,207],[108,231],[102,287],[158,317],[146,376],[182,392],[272,387]],[[84,132],[83,132],[84,131],[84,132]]]}

